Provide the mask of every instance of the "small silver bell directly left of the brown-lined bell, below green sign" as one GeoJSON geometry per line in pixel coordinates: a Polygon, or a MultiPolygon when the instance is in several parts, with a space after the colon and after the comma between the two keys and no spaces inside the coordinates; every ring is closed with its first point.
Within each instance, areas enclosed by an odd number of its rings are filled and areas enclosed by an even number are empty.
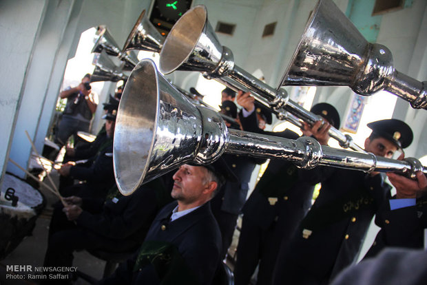
{"type": "Polygon", "coordinates": [[[158,32],[154,25],[145,17],[145,10],[140,14],[132,28],[123,52],[128,50],[145,50],[148,52],[160,52],[165,38],[158,32]]]}

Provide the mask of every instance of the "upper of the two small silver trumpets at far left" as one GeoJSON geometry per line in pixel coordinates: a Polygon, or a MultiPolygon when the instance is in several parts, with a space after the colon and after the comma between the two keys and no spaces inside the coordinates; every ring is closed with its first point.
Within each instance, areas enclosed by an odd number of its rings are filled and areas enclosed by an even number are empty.
{"type": "Polygon", "coordinates": [[[136,63],[138,63],[138,57],[132,51],[124,51],[118,47],[116,41],[114,41],[110,32],[108,32],[107,28],[105,28],[98,36],[94,47],[92,48],[92,52],[101,53],[103,50],[108,55],[117,56],[118,59],[123,61],[125,65],[123,66],[124,70],[132,70],[136,63]]]}

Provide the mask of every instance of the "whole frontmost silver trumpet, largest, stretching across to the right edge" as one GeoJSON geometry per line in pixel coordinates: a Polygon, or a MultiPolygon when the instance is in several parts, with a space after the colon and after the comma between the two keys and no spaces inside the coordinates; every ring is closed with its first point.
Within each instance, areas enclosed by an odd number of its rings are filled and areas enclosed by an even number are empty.
{"type": "Polygon", "coordinates": [[[227,129],[217,112],[191,104],[160,74],[140,61],[123,90],[114,133],[114,175],[124,195],[187,162],[207,165],[222,154],[280,158],[303,168],[327,165],[361,171],[426,173],[419,160],[392,160],[321,146],[317,140],[262,136],[227,129]]]}

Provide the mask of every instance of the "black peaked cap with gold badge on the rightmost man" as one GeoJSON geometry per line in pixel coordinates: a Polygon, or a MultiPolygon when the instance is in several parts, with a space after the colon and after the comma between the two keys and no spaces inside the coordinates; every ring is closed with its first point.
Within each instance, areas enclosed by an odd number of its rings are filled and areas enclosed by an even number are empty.
{"type": "Polygon", "coordinates": [[[414,138],[412,129],[402,120],[377,120],[367,126],[372,129],[373,134],[390,140],[402,149],[408,147],[414,138]]]}

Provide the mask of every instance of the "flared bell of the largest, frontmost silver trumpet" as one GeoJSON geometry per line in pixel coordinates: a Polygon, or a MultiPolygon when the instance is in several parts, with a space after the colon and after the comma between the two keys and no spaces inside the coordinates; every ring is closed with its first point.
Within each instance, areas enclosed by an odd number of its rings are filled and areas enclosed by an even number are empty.
{"type": "Polygon", "coordinates": [[[114,174],[123,195],[191,161],[202,138],[202,119],[180,92],[140,61],[123,90],[114,131],[114,174]]]}

